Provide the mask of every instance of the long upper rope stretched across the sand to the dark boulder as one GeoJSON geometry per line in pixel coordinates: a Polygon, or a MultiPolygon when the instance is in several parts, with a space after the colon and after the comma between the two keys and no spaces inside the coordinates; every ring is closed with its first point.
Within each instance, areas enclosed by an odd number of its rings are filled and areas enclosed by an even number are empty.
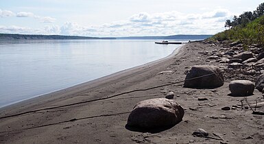
{"type": "MultiPolygon", "coordinates": [[[[220,71],[218,73],[224,73],[224,71],[220,71]]],[[[16,116],[20,116],[20,115],[29,114],[29,113],[39,112],[39,111],[42,111],[42,110],[51,110],[51,109],[55,109],[55,108],[63,108],[63,107],[67,107],[67,106],[75,106],[75,105],[78,105],[78,104],[86,104],[86,103],[93,102],[93,101],[100,101],[100,100],[104,100],[104,99],[110,99],[112,97],[117,97],[119,95],[125,95],[125,94],[128,94],[128,93],[134,93],[134,92],[138,92],[138,91],[148,91],[148,90],[151,90],[151,89],[154,89],[154,88],[160,88],[160,87],[163,87],[163,86],[170,86],[170,85],[173,85],[173,84],[179,84],[179,83],[182,83],[182,82],[187,82],[187,81],[190,81],[190,80],[195,80],[195,79],[199,79],[199,78],[202,78],[202,77],[207,77],[207,76],[215,75],[215,74],[217,74],[217,73],[210,73],[210,74],[202,75],[202,76],[199,76],[199,77],[193,77],[193,78],[188,79],[188,80],[182,80],[182,81],[179,81],[179,82],[172,82],[172,83],[163,84],[163,85],[160,85],[160,86],[153,86],[151,88],[136,89],[136,90],[133,90],[133,91],[127,91],[127,92],[124,92],[124,93],[119,93],[117,95],[112,95],[110,97],[103,97],[103,98],[99,98],[99,99],[81,101],[81,102],[77,102],[77,103],[73,103],[73,104],[66,104],[66,105],[61,105],[61,106],[53,106],[53,107],[50,107],[50,108],[40,108],[38,110],[30,110],[30,111],[26,111],[26,112],[20,112],[20,113],[14,114],[14,115],[8,115],[8,116],[5,116],[5,117],[0,117],[0,119],[5,119],[5,118],[8,118],[8,117],[16,117],[16,116]]],[[[183,84],[179,84],[177,86],[182,86],[182,85],[183,84]]]]}

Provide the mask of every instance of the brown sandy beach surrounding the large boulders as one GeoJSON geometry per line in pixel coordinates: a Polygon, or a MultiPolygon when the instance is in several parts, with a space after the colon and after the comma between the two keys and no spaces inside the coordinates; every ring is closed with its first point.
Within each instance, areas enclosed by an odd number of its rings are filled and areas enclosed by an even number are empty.
{"type": "MultiPolygon", "coordinates": [[[[0,143],[263,143],[264,116],[239,108],[241,100],[243,106],[246,105],[245,97],[228,96],[228,80],[215,89],[182,88],[172,84],[118,95],[182,81],[186,76],[184,71],[195,64],[219,65],[206,62],[207,56],[198,53],[214,49],[219,47],[189,43],[178,54],[158,62],[2,108],[0,143]],[[176,93],[174,99],[185,110],[180,123],[167,130],[149,132],[125,128],[128,115],[137,102],[165,97],[169,91],[176,93]],[[111,97],[113,95],[118,96],[111,97]],[[104,97],[111,98],[94,100],[104,97]],[[208,100],[198,101],[199,97],[208,100]],[[238,108],[221,110],[224,106],[238,108]],[[21,112],[25,113],[16,115],[21,112]],[[14,116],[6,117],[10,115],[14,116]],[[206,130],[209,136],[193,136],[197,128],[206,130]]],[[[263,101],[262,94],[256,90],[254,95],[247,97],[250,103],[256,99],[263,101]]]]}

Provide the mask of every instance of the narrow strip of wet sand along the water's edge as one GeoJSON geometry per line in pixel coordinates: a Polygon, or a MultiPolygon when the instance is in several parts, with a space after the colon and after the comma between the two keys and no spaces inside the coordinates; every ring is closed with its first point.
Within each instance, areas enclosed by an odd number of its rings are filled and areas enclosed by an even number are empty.
{"type": "Polygon", "coordinates": [[[160,58],[158,60],[154,60],[154,61],[148,62],[146,64],[141,64],[141,65],[136,66],[136,67],[132,67],[132,68],[129,68],[129,69],[124,69],[122,71],[117,71],[116,73],[112,73],[110,75],[99,77],[99,78],[97,78],[95,80],[91,80],[91,81],[88,81],[88,82],[82,82],[80,84],[75,84],[75,85],[69,86],[67,88],[60,88],[60,89],[55,90],[55,91],[51,91],[51,92],[48,92],[48,93],[43,93],[43,94],[40,94],[40,95],[36,95],[34,97],[29,97],[27,99],[22,99],[22,100],[19,100],[19,101],[15,101],[12,104],[6,104],[4,106],[1,106],[0,107],[0,111],[1,110],[6,110],[8,108],[15,107],[15,106],[23,106],[25,104],[32,103],[32,101],[38,101],[40,97],[44,98],[44,97],[49,97],[50,95],[56,95],[56,93],[65,93],[65,91],[68,91],[67,89],[80,88],[80,87],[83,87],[83,86],[88,86],[89,84],[96,84],[97,82],[104,82],[104,80],[109,80],[112,77],[117,77],[118,75],[125,75],[125,73],[132,73],[132,71],[136,71],[137,69],[141,69],[142,67],[146,67],[148,65],[152,66],[152,65],[158,64],[159,62],[162,62],[163,60],[167,60],[167,59],[171,58],[172,56],[178,54],[178,51],[180,51],[180,49],[182,47],[184,47],[184,44],[182,44],[179,47],[177,47],[175,50],[173,50],[173,52],[171,54],[169,54],[169,56],[166,56],[165,58],[160,58]]]}

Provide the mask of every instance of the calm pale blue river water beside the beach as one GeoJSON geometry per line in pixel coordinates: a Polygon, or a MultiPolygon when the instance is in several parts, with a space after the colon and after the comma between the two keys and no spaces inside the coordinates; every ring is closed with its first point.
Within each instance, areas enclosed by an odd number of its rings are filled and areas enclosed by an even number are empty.
{"type": "Polygon", "coordinates": [[[169,56],[154,40],[0,43],[0,107],[169,56]]]}

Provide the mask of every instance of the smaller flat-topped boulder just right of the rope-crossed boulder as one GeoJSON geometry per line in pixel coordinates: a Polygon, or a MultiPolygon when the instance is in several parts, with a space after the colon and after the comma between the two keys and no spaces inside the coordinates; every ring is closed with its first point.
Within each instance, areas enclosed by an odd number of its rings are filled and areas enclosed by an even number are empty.
{"type": "Polygon", "coordinates": [[[254,92],[254,83],[249,80],[233,80],[229,84],[229,89],[232,96],[248,96],[254,92]]]}

